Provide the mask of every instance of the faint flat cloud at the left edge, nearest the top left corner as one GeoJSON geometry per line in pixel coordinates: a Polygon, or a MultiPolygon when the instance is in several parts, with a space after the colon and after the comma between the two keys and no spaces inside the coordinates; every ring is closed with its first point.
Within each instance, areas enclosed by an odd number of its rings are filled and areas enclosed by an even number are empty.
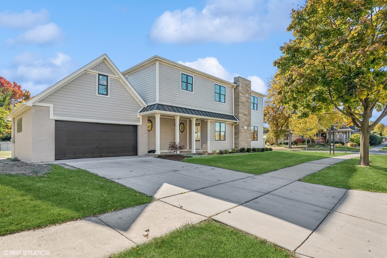
{"type": "Polygon", "coordinates": [[[39,12],[25,10],[22,13],[10,13],[5,11],[0,13],[0,27],[9,27],[14,29],[29,29],[37,25],[45,24],[50,14],[46,9],[39,12]]]}

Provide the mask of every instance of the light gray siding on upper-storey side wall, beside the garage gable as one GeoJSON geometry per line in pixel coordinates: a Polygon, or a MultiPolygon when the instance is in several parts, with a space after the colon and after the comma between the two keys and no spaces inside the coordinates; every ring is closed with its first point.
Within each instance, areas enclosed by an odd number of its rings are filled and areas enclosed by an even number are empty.
{"type": "Polygon", "coordinates": [[[128,82],[147,104],[156,102],[156,64],[128,75],[128,82]]]}

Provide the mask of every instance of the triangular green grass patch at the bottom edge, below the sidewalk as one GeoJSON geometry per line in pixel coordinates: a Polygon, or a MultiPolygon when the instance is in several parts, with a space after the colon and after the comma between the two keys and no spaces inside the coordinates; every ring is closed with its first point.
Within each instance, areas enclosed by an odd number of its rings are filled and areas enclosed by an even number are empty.
{"type": "Polygon", "coordinates": [[[291,258],[297,256],[229,226],[214,221],[204,221],[183,226],[166,236],[152,239],[149,243],[140,244],[110,257],[291,258]]]}

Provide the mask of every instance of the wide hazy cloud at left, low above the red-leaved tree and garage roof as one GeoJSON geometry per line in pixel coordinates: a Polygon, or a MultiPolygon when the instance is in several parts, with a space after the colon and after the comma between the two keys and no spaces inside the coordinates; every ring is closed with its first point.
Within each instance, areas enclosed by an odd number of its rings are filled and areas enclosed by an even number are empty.
{"type": "Polygon", "coordinates": [[[15,56],[9,69],[2,70],[1,74],[36,95],[69,75],[72,69],[70,56],[63,53],[42,58],[39,54],[24,52],[15,56]]]}

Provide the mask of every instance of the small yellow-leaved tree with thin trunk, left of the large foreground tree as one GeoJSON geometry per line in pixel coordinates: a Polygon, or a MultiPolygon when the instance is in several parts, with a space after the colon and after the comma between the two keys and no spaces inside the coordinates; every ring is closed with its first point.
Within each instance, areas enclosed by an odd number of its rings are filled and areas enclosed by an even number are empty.
{"type": "MultiPolygon", "coordinates": [[[[289,128],[297,135],[303,135],[315,140],[315,134],[319,132],[319,119],[314,114],[310,114],[306,118],[298,115],[293,115],[289,120],[289,128]]],[[[305,150],[308,150],[308,143],[305,140],[305,150]]]]}

